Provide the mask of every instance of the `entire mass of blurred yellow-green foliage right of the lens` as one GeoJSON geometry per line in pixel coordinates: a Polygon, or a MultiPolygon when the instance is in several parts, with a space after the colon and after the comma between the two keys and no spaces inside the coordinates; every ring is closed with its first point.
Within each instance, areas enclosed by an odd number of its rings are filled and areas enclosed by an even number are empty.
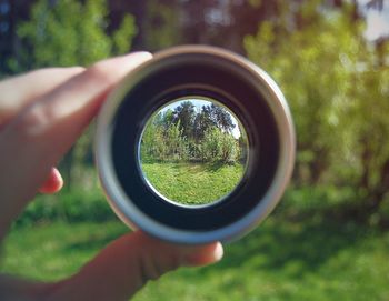
{"type": "Polygon", "coordinates": [[[388,46],[366,42],[347,6],[342,13],[320,13],[317,6],[301,7],[309,26],[295,31],[282,21],[263,22],[245,46],[291,106],[295,182],[353,185],[365,191],[357,197],[370,212],[389,188],[389,141],[382,140],[389,134],[388,46]]]}

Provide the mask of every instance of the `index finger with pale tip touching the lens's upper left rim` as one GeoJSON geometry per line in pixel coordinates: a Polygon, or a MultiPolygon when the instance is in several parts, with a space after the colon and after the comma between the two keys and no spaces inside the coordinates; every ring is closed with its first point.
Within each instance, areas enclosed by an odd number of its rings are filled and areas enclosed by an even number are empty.
{"type": "Polygon", "coordinates": [[[0,133],[0,231],[33,198],[110,89],[150,58],[139,52],[101,61],[44,94],[6,127],[0,133]]]}

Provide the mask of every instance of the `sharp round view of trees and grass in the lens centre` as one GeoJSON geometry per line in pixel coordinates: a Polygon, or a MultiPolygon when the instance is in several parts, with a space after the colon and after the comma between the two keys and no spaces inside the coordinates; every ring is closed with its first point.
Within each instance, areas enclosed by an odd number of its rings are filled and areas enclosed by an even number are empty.
{"type": "Polygon", "coordinates": [[[210,101],[177,101],[148,122],[142,170],[166,198],[205,204],[231,192],[247,159],[247,139],[231,113],[210,101]]]}

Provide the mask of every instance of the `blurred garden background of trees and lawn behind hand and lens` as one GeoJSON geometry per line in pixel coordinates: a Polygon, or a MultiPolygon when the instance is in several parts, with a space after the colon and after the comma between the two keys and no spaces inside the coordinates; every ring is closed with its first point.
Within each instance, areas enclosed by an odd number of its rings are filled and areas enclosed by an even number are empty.
{"type": "MultiPolygon", "coordinates": [[[[297,163],[276,212],[220,263],[134,300],[389,300],[388,39],[387,0],[0,0],[1,78],[202,43],[248,57],[290,103],[297,163]]],[[[61,161],[63,191],[13,224],[1,271],[57,280],[128,231],[99,188],[92,136],[61,161]]]]}

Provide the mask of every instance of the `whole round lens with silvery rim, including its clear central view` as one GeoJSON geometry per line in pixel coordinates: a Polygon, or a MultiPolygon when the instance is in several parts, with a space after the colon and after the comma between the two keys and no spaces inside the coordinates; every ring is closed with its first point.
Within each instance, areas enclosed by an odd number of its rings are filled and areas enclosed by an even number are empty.
{"type": "Polygon", "coordinates": [[[111,92],[96,157],[108,200],[131,228],[180,243],[228,241],[280,200],[295,132],[261,69],[218,48],[178,47],[111,92]]]}

